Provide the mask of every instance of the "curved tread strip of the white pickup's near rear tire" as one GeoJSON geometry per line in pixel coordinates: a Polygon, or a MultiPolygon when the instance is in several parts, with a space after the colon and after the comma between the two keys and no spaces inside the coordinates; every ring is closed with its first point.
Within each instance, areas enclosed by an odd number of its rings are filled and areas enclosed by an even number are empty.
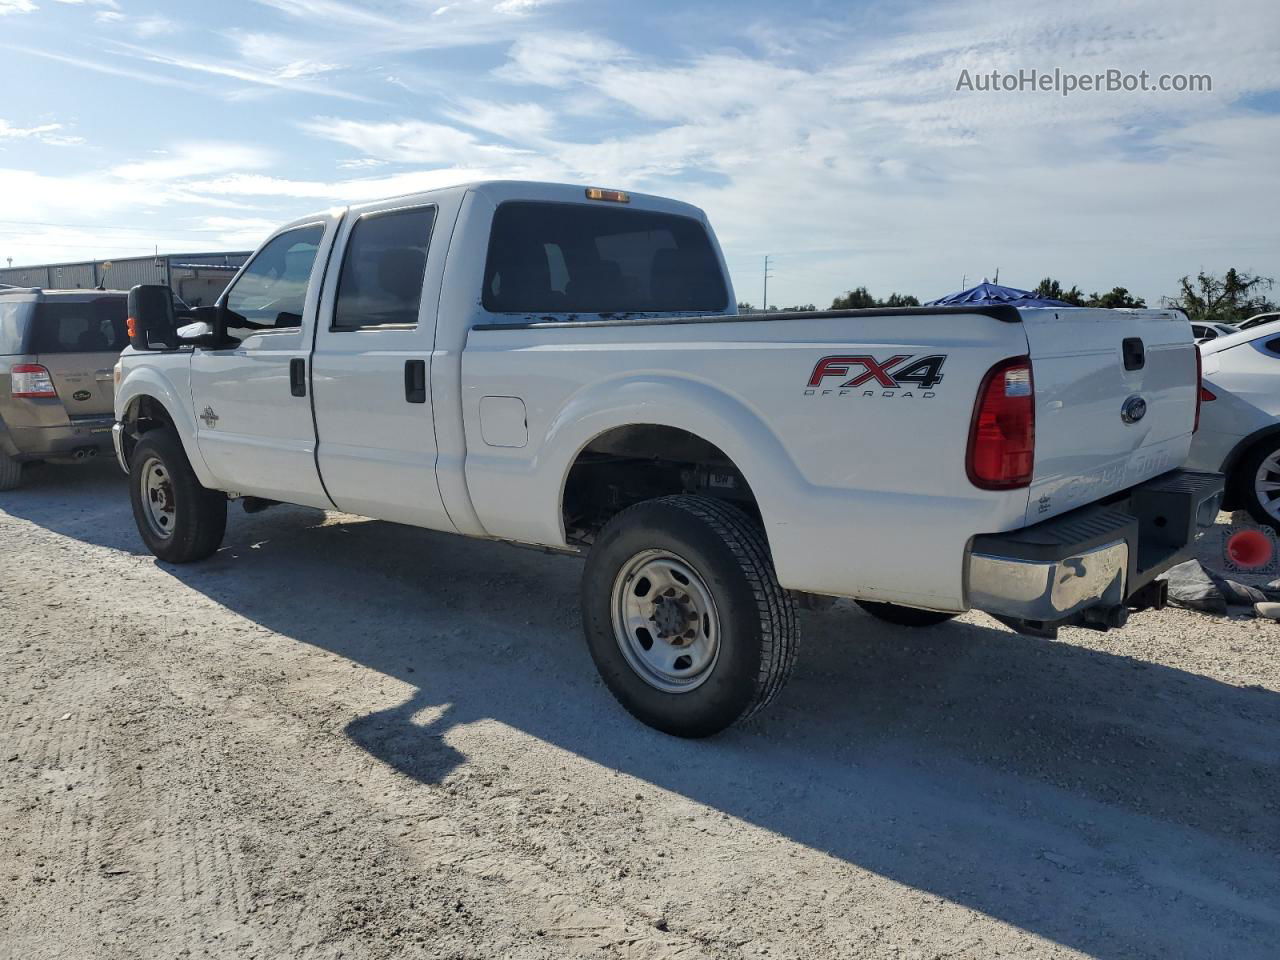
{"type": "Polygon", "coordinates": [[[778,584],[764,530],[723,500],[687,494],[660,497],[628,507],[609,525],[626,524],[628,517],[655,504],[675,507],[701,521],[728,548],[754,598],[760,631],[759,669],[754,694],[724,724],[733,726],[764,709],[791,676],[799,644],[795,602],[778,584]]]}

